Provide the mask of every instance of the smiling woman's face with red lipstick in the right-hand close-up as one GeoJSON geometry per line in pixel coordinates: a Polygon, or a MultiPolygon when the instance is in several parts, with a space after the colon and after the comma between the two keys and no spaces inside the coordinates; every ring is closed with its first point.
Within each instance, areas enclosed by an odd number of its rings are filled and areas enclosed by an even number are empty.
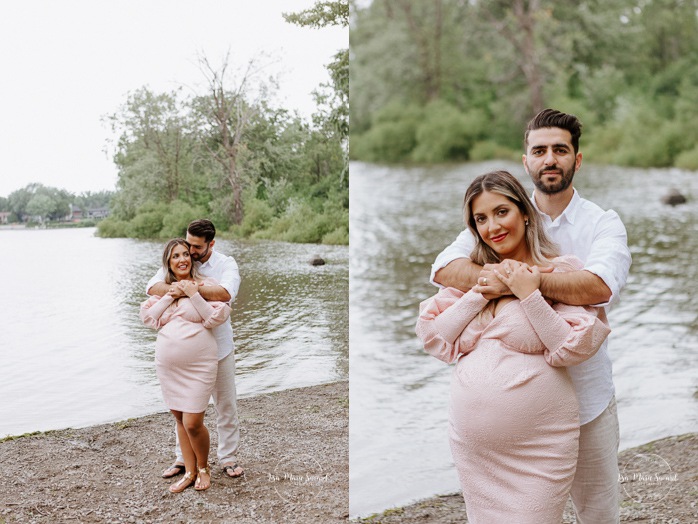
{"type": "Polygon", "coordinates": [[[527,260],[527,217],[511,200],[499,193],[483,191],[471,203],[471,213],[482,241],[499,255],[501,260],[527,260]]]}

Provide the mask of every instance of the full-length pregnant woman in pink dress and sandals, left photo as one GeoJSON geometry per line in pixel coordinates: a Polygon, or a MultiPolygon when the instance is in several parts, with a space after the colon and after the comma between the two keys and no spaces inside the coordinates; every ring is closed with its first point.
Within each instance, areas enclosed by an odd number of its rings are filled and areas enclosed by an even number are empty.
{"type": "Polygon", "coordinates": [[[184,456],[184,477],[170,491],[179,493],[192,484],[201,491],[211,486],[210,438],[204,425],[218,368],[218,346],[211,328],[227,321],[230,307],[206,302],[199,294],[200,285],[215,281],[198,278],[184,239],[168,242],[162,264],[170,291],[146,300],[140,316],[145,325],[159,330],[155,368],[165,404],[177,421],[184,456]]]}

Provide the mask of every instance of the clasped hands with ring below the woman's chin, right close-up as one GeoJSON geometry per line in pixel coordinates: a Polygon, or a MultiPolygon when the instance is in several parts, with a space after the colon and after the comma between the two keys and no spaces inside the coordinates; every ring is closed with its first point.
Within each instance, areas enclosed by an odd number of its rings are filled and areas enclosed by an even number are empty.
{"type": "Polygon", "coordinates": [[[509,259],[499,264],[485,264],[472,290],[487,300],[512,294],[523,300],[540,287],[541,273],[552,270],[552,267],[529,266],[509,259]]]}

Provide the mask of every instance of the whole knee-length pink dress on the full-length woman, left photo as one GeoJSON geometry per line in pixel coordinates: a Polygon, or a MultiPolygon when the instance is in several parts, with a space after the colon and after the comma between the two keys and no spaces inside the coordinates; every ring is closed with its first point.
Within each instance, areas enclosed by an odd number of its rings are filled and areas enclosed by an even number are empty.
{"type": "Polygon", "coordinates": [[[176,303],[169,295],[152,296],[141,304],[140,316],[146,326],[159,330],[155,370],[167,407],[206,411],[218,371],[218,345],[210,328],[228,320],[230,307],[207,302],[199,293],[176,303]]]}

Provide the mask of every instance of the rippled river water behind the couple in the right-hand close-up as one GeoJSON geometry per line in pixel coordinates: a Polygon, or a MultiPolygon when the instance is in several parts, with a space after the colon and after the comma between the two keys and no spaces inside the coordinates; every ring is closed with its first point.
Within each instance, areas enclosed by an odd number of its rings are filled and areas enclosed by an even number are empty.
{"type": "MultiPolygon", "coordinates": [[[[414,334],[435,293],[431,263],[463,227],[470,181],[520,164],[395,168],[350,175],[350,513],[458,491],[446,435],[450,367],[414,334]]],[[[615,209],[633,256],[610,313],[621,449],[698,431],[698,173],[584,166],[580,194],[615,209]],[[689,203],[660,203],[670,187],[689,203]]]]}

